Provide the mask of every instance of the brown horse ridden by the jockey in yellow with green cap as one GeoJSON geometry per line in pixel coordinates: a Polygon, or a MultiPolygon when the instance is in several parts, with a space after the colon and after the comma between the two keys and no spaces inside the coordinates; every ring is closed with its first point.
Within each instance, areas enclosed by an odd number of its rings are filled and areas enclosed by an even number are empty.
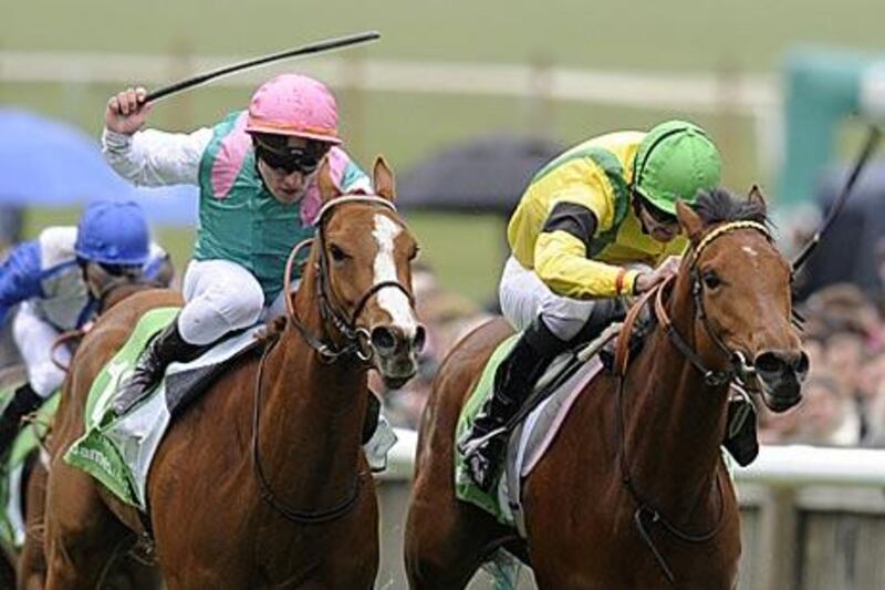
{"type": "Polygon", "coordinates": [[[524,540],[455,498],[458,413],[511,330],[498,320],[466,337],[423,417],[406,529],[413,588],[464,588],[500,546],[530,562],[541,588],[736,587],[740,522],[719,446],[729,382],[754,385],[784,411],[808,371],[790,267],[764,217],[756,189],[740,201],[706,195],[698,213],[679,204],[691,247],[659,291],[657,325],[623,379],[602,374],[586,386],[524,480],[524,540]]]}

